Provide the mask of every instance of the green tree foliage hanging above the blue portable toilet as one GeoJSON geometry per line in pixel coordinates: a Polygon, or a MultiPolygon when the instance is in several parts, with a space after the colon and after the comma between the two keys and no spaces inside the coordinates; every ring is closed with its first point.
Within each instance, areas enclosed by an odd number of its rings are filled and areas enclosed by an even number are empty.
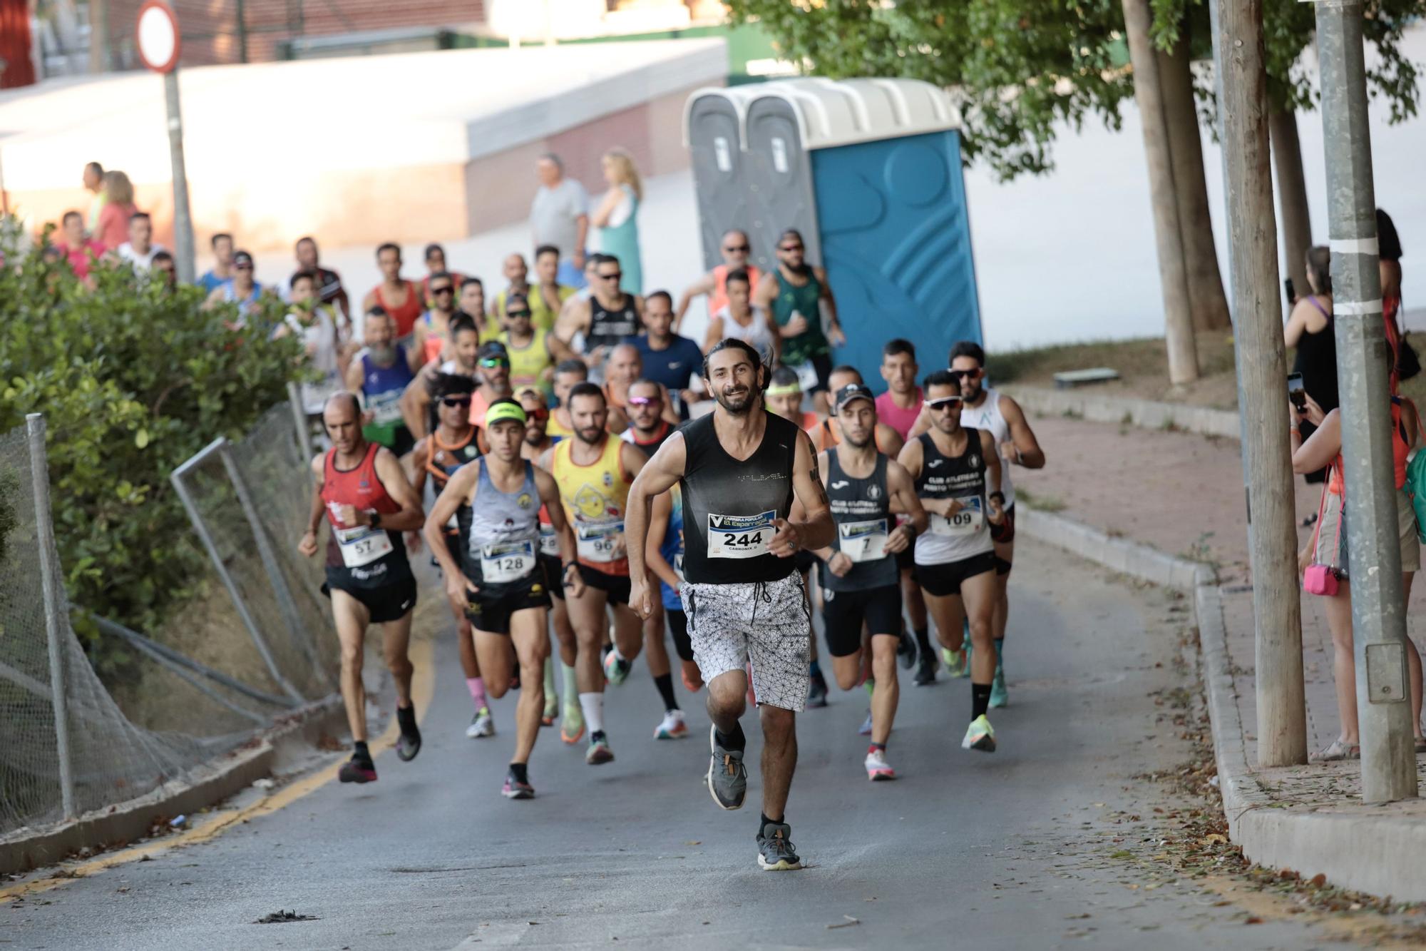
{"type": "Polygon", "coordinates": [[[786,59],[834,79],[900,76],[950,90],[967,160],[1001,178],[1052,167],[1055,124],[1119,127],[1134,94],[1119,0],[730,0],[786,59]]]}

